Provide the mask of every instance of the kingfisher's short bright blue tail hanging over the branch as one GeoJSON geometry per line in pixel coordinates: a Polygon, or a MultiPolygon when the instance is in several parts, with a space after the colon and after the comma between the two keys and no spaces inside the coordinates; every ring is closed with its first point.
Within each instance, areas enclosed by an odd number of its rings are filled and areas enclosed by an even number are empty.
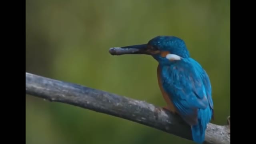
{"type": "Polygon", "coordinates": [[[211,118],[212,118],[212,110],[210,107],[206,109],[198,110],[198,124],[191,126],[192,137],[194,142],[198,144],[202,144],[204,142],[205,130],[211,118]]]}

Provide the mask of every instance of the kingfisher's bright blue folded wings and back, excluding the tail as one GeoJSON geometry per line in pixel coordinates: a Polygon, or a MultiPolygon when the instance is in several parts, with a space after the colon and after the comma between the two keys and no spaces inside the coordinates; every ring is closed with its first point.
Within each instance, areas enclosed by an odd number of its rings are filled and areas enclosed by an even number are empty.
{"type": "Polygon", "coordinates": [[[213,106],[208,75],[193,59],[182,59],[161,69],[163,88],[178,113],[188,124],[197,124],[198,108],[205,109],[209,103],[213,106]]]}

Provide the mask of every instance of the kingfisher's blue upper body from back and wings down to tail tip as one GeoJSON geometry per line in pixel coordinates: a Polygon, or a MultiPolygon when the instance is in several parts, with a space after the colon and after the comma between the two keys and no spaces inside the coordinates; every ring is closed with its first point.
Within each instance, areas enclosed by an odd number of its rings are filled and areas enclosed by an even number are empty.
{"type": "Polygon", "coordinates": [[[159,65],[160,82],[178,114],[192,126],[194,141],[204,140],[213,116],[212,89],[206,71],[192,58],[159,65]],[[194,127],[194,128],[193,128],[194,127]]]}

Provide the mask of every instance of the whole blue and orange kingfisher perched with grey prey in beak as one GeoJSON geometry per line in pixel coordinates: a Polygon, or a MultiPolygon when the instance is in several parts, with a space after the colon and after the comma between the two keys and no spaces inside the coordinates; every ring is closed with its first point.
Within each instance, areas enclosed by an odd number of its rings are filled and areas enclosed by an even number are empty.
{"type": "Polygon", "coordinates": [[[156,36],[147,44],[111,49],[113,55],[147,54],[157,62],[158,85],[167,106],[192,131],[192,140],[202,144],[210,120],[214,119],[212,87],[204,68],[193,58],[184,40],[176,36],[156,36]],[[115,53],[115,54],[114,54],[115,53]]]}

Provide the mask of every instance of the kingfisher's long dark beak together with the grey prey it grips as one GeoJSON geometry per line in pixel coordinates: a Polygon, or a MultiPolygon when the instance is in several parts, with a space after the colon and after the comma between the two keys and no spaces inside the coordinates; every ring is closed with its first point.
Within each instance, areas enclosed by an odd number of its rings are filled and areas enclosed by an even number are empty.
{"type": "Polygon", "coordinates": [[[153,55],[153,54],[157,54],[158,52],[159,52],[158,50],[154,50],[153,47],[149,46],[148,44],[123,46],[123,47],[116,47],[116,48],[109,49],[109,53],[112,55],[123,55],[123,54],[153,55]]]}

